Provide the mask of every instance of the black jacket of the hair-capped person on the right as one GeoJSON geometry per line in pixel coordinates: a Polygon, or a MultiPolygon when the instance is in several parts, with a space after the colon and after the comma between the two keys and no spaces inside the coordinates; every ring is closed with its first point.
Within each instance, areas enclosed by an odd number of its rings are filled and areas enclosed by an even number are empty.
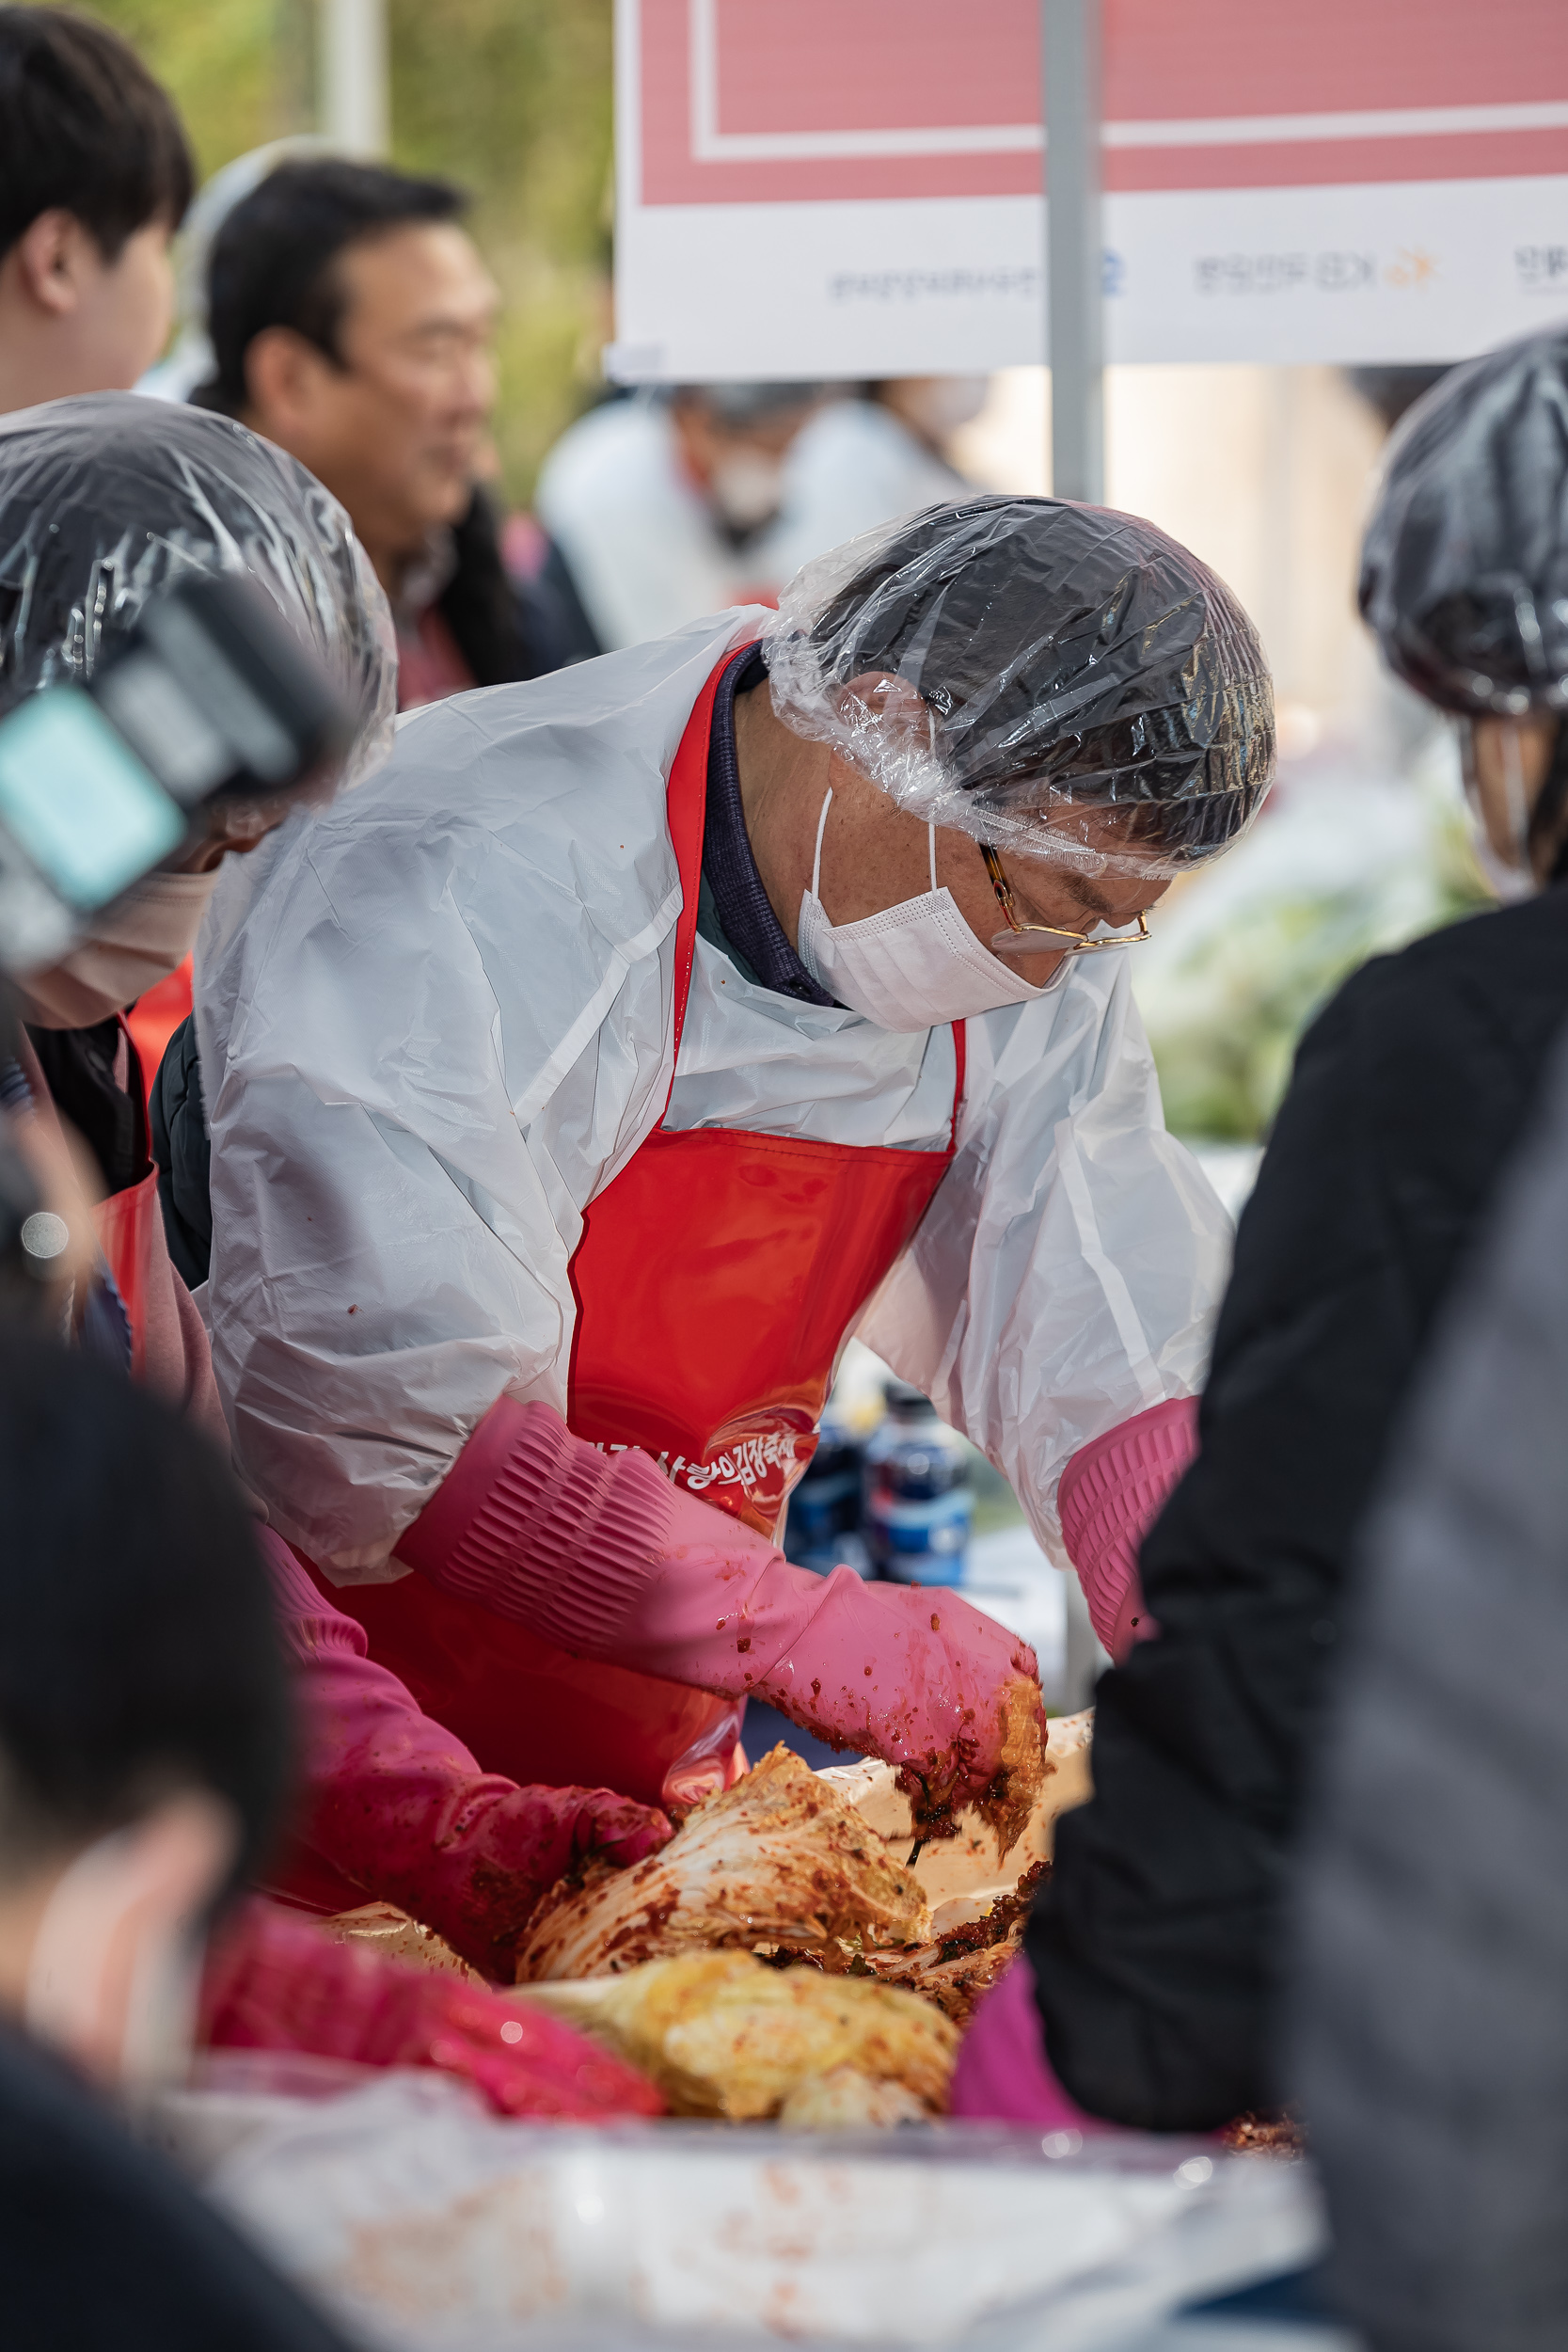
{"type": "Polygon", "coordinates": [[[1095,2114],[1279,2098],[1281,1879],[1352,1536],[1566,1014],[1556,889],[1375,960],[1302,1040],[1201,1451],[1143,1548],[1161,1635],[1100,1682],[1095,1799],[1027,1929],[1051,2063],[1095,2114]]]}

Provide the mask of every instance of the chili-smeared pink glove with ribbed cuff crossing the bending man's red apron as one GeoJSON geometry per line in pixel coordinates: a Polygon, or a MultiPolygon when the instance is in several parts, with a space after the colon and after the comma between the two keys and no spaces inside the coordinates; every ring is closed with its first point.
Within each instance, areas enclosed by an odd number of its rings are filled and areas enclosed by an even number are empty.
{"type": "Polygon", "coordinates": [[[491,1406],[397,1557],[578,1656],[764,1698],[907,1766],[936,1809],[985,1795],[1009,1726],[1039,1715],[1034,1651],[969,1602],[797,1569],[548,1404],[491,1406]]]}

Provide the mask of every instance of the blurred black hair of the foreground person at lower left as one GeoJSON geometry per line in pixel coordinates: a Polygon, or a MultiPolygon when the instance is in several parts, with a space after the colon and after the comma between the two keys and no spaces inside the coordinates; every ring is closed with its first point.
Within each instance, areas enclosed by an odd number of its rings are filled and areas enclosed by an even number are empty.
{"type": "Polygon", "coordinates": [[[110,1367],[5,1331],[0,1526],[5,1835],[68,1846],[202,1788],[235,1809],[249,1875],[289,1710],[254,1522],[216,1449],[110,1367]]]}

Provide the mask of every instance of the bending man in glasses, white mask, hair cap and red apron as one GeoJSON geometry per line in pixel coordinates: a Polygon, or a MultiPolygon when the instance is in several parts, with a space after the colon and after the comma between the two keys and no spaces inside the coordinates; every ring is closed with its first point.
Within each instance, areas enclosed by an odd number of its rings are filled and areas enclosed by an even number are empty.
{"type": "MultiPolygon", "coordinates": [[[[858,1329],[1135,1635],[1229,1225],[1164,1134],[1126,941],[1272,762],[1213,574],[976,499],[776,616],[416,713],[223,880],[235,1458],[489,1771],[691,1797],[757,1696],[924,1818],[1009,1818],[1032,1653],[776,1536],[858,1329]]],[[[367,1851],[390,1816],[367,1771],[367,1851]]]]}

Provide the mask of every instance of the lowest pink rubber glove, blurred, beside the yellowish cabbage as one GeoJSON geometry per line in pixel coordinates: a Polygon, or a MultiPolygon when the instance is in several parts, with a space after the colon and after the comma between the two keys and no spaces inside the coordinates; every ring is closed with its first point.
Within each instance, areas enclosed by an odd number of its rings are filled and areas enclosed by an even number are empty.
{"type": "Polygon", "coordinates": [[[470,2082],[498,2114],[592,2124],[665,2107],[635,2067],[569,2025],[456,1976],[334,1943],[259,1896],[214,1936],[200,2039],[212,2049],[440,2067],[470,2082]]]}

